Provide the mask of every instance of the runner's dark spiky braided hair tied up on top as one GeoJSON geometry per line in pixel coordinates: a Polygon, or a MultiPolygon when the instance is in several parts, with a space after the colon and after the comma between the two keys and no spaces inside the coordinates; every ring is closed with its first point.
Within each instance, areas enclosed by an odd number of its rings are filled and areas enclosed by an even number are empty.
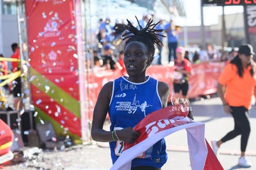
{"type": "Polygon", "coordinates": [[[160,35],[159,32],[163,32],[163,29],[156,30],[155,27],[160,23],[161,21],[157,23],[153,23],[152,19],[148,20],[147,25],[145,28],[142,28],[142,25],[140,25],[139,20],[135,16],[140,30],[134,27],[132,23],[127,19],[128,24],[125,25],[126,29],[128,30],[127,33],[124,33],[122,35],[124,38],[122,40],[126,40],[125,46],[128,45],[132,41],[140,41],[142,42],[148,49],[148,53],[150,54],[151,57],[154,56],[155,54],[155,46],[154,45],[163,45],[161,40],[159,39],[159,36],[164,36],[160,35]]]}

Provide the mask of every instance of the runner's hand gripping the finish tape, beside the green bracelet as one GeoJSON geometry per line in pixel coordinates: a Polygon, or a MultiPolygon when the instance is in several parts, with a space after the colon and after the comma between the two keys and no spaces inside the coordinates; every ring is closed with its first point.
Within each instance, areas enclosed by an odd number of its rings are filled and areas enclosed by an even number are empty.
{"type": "Polygon", "coordinates": [[[134,131],[132,127],[126,127],[122,130],[116,130],[117,137],[126,143],[134,143],[139,137],[140,132],[134,131]]]}

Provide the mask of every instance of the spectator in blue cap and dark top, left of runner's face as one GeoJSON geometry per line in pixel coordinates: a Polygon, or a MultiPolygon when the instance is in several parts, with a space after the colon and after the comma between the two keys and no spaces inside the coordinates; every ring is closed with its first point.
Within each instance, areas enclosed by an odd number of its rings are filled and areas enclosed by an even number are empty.
{"type": "Polygon", "coordinates": [[[106,44],[104,46],[102,59],[103,67],[105,67],[107,70],[121,69],[120,64],[116,61],[116,58],[113,56],[114,49],[115,47],[109,44],[106,44]]]}

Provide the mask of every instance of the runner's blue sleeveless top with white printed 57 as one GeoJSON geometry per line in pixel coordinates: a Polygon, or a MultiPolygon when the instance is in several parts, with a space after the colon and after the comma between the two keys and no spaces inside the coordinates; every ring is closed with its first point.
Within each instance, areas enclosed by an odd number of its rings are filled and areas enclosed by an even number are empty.
{"type": "MultiPolygon", "coordinates": [[[[113,81],[113,92],[109,104],[110,130],[134,127],[147,114],[161,109],[163,104],[158,94],[158,80],[152,77],[142,83],[133,83],[125,77],[113,81]]],[[[122,153],[124,142],[109,142],[114,162],[122,153]]],[[[132,160],[132,167],[155,166],[161,168],[167,161],[165,140],[161,139],[138,158],[132,160]]]]}

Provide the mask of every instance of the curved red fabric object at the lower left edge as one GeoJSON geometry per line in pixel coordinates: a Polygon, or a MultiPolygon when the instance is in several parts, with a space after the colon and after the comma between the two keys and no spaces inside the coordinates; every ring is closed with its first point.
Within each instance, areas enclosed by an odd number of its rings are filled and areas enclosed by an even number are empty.
{"type": "MultiPolygon", "coordinates": [[[[14,134],[12,134],[11,128],[0,119],[0,146],[7,142],[12,142],[14,140],[14,134]]],[[[0,155],[8,153],[10,148],[0,150],[0,155]]]]}

